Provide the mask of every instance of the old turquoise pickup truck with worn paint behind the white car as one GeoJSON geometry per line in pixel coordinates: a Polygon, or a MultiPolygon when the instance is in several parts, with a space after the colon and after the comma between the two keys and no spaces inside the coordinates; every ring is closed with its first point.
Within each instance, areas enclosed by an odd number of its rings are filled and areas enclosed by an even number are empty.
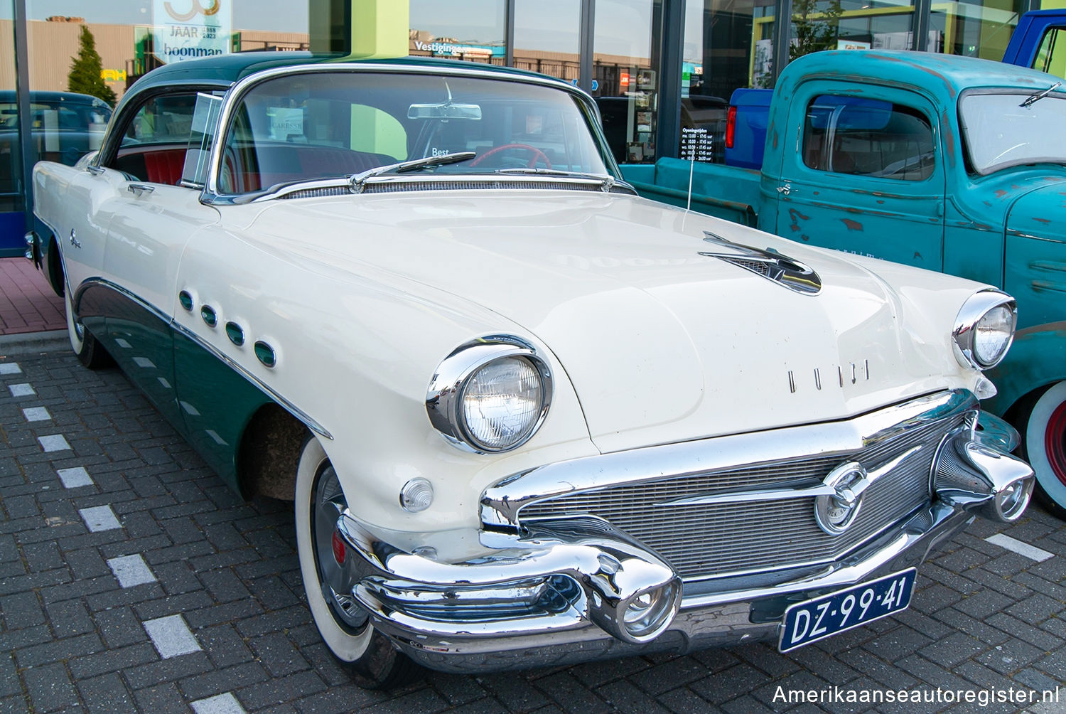
{"type": "Polygon", "coordinates": [[[790,63],[761,171],[625,165],[642,195],[798,242],[997,285],[1019,332],[986,406],[1014,424],[1066,518],[1066,84],[946,54],[852,50],[790,63]],[[691,173],[690,173],[691,170],[691,173]]]}

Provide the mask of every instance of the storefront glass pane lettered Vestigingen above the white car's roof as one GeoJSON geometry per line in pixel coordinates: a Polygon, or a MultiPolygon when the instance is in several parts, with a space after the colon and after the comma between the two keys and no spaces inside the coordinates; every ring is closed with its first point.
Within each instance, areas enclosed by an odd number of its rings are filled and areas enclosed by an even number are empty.
{"type": "Polygon", "coordinates": [[[504,0],[410,0],[408,51],[502,65],[505,10],[504,0]]]}

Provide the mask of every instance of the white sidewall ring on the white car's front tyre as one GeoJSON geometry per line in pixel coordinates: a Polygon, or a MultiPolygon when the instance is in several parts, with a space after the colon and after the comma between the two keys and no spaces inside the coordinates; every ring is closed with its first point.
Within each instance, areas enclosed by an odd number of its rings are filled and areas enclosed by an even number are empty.
{"type": "Polygon", "coordinates": [[[338,659],[355,662],[367,652],[374,629],[368,624],[362,633],[356,636],[340,629],[334,620],[329,605],[322,597],[319,573],[314,566],[314,549],[311,546],[311,487],[314,483],[314,474],[326,459],[322,444],[313,438],[307,442],[300,455],[295,499],[296,553],[300,556],[300,573],[304,580],[304,590],[307,592],[307,604],[311,608],[311,616],[322,639],[338,659]]]}

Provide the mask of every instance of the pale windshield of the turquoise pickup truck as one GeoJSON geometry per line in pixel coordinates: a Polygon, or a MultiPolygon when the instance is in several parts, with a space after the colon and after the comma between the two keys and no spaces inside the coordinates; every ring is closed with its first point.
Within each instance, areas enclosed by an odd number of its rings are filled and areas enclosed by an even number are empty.
{"type": "MultiPolygon", "coordinates": [[[[1066,93],[1060,90],[1029,101],[1032,92],[972,93],[958,102],[963,138],[972,170],[987,175],[1027,163],[1066,163],[1066,93]]],[[[1061,88],[1060,88],[1061,89],[1061,88]]]]}

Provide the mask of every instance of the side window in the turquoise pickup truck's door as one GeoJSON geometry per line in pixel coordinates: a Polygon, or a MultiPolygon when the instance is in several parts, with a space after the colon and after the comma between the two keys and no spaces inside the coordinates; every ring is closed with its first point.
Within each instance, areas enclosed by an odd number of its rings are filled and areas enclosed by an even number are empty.
{"type": "Polygon", "coordinates": [[[803,161],[818,171],[920,181],[933,174],[933,128],[888,101],[822,95],[807,107],[803,161]]]}

